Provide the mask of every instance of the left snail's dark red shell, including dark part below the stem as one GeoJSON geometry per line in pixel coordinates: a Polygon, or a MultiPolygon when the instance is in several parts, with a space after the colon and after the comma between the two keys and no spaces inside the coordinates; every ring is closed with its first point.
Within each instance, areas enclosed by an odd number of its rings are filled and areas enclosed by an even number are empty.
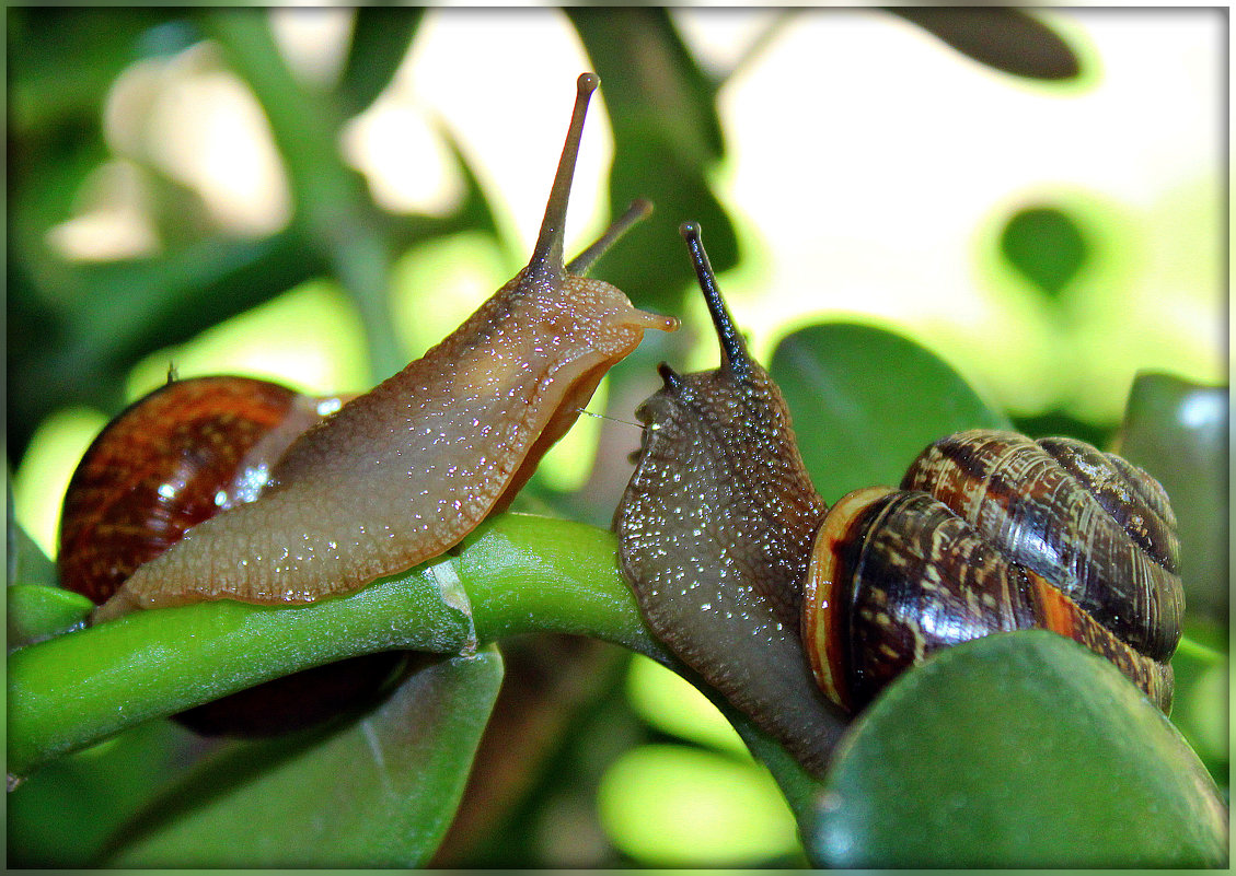
{"type": "MultiPolygon", "coordinates": [[[[121,411],[78,465],[61,515],[61,586],[103,604],[142,563],[215,514],[252,502],[274,462],[341,398],[269,381],[172,381],[121,411]]],[[[265,736],[330,718],[375,696],[404,660],[366,654],[257,684],[182,712],[208,735],[265,736]]]]}

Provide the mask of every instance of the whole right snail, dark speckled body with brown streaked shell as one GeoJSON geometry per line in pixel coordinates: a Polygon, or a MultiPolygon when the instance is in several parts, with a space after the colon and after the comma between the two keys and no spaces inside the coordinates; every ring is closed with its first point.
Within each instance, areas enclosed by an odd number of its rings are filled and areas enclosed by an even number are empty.
{"type": "Polygon", "coordinates": [[[660,367],[614,529],[645,621],[684,663],[817,775],[897,672],[1000,630],[1067,635],[1170,708],[1183,591],[1153,478],[1080,441],[974,430],[925,450],[899,491],[826,508],[698,226],[681,231],[721,367],[660,367]]]}

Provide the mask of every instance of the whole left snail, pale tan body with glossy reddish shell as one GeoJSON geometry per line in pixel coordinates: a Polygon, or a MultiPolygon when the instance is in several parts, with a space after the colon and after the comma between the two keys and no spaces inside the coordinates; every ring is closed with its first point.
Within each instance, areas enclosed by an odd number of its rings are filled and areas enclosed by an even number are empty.
{"type": "Polygon", "coordinates": [[[575,109],[531,259],[424,357],[350,400],[262,381],[173,382],[124,411],[74,474],[66,587],[93,623],[209,599],[304,604],[402,572],[504,509],[648,329],[583,274],[651,205],[570,264],[562,235],[588,100],[575,109]]]}

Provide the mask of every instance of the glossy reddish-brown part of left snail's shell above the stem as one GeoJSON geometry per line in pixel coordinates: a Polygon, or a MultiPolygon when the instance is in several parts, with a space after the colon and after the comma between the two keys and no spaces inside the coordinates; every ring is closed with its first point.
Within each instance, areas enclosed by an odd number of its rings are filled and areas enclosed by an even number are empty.
{"type": "Polygon", "coordinates": [[[300,432],[342,399],[251,377],[171,381],[95,437],[61,514],[61,586],[101,605],[221,510],[252,502],[300,432]]]}

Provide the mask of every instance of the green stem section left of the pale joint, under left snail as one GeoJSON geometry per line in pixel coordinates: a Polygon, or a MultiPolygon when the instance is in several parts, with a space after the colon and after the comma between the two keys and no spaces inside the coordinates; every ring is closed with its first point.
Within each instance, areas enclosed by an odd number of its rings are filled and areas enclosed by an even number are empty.
{"type": "Polygon", "coordinates": [[[472,642],[466,597],[433,568],[303,608],[135,612],[9,656],[9,770],[25,775],[130,724],[319,663],[472,642]]]}

